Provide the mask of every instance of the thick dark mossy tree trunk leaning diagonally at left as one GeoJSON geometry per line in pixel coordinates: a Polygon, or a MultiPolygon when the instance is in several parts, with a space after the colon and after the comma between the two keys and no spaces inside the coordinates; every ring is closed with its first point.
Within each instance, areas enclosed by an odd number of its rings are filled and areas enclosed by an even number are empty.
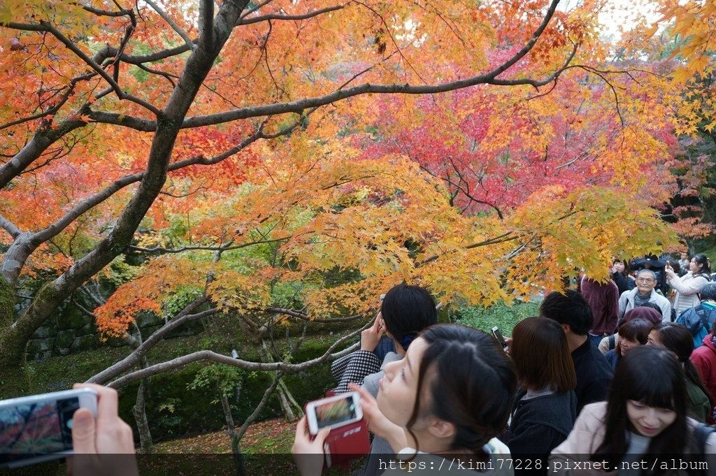
{"type": "MultiPolygon", "coordinates": [[[[22,383],[21,377],[25,372],[26,344],[34,331],[57,311],[57,306],[75,289],[87,279],[95,276],[132,243],[137,227],[164,186],[175,140],[186,114],[208,72],[211,71],[214,60],[231,35],[233,26],[240,19],[241,11],[246,4],[248,4],[248,0],[224,2],[221,10],[213,17],[213,31],[207,31],[200,38],[195,49],[186,59],[184,70],[176,87],[164,109],[158,114],[157,126],[152,137],[142,180],[130,201],[115,220],[115,225],[110,233],[92,251],[75,261],[67,271],[62,273],[62,276],[47,283],[34,297],[27,311],[14,324],[8,326],[6,316],[0,312],[0,319],[3,319],[0,320],[0,382],[8,382],[8,384],[0,386],[0,392],[3,394],[19,394],[28,387],[22,383]]],[[[79,125],[79,122],[77,124],[79,125]]],[[[52,142],[52,137],[49,137],[48,140],[47,144],[34,147],[33,150],[35,152],[39,150],[39,153],[42,153],[42,148],[52,142]]],[[[35,155],[39,157],[37,153],[35,155]]],[[[28,162],[32,162],[32,160],[28,160],[28,162]]],[[[11,160],[8,164],[19,165],[21,168],[26,166],[16,160],[11,160]]],[[[10,170],[9,165],[4,165],[0,170],[0,187],[9,183],[9,180],[16,176],[21,168],[10,170]]],[[[0,273],[4,276],[4,281],[14,283],[19,276],[24,258],[49,238],[57,235],[63,228],[62,223],[58,222],[32,236],[24,233],[14,236],[17,243],[14,243],[11,248],[12,253],[16,254],[12,256],[12,259],[5,256],[0,261],[0,273]]],[[[6,283],[0,285],[0,287],[4,286],[6,283]]]]}

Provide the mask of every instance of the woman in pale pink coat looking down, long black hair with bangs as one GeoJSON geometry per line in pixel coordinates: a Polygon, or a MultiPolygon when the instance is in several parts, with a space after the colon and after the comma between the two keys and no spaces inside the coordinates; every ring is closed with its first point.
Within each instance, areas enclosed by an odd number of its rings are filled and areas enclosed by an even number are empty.
{"type": "Polygon", "coordinates": [[[687,417],[684,371],[672,352],[640,346],[616,367],[609,401],[582,409],[549,465],[558,475],[604,476],[646,461],[647,469],[634,474],[680,476],[687,473],[652,463],[683,454],[716,467],[716,433],[687,417]]]}

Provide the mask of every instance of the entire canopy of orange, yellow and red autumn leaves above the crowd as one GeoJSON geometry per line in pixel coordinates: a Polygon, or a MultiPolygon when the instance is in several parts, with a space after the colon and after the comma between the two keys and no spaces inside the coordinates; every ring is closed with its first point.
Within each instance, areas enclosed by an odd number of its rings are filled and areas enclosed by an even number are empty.
{"type": "Polygon", "coordinates": [[[309,319],[401,281],[488,305],[677,243],[654,207],[684,86],[646,43],[613,59],[605,2],[165,3],[0,5],[0,271],[52,290],[4,339],[123,257],[111,336],[187,290],[309,319]]]}

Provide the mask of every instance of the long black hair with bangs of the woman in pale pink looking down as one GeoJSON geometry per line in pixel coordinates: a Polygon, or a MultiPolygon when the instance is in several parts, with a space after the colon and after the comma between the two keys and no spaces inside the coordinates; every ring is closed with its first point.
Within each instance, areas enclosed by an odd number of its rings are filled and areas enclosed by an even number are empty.
{"type": "MultiPolygon", "coordinates": [[[[619,360],[606,404],[604,441],[592,455],[617,467],[627,452],[627,429],[631,428],[627,402],[635,400],[648,407],[670,409],[676,420],[652,438],[648,455],[682,453],[687,447],[687,394],[684,372],[671,352],[653,346],[639,346],[619,360]]],[[[642,475],[658,474],[642,470],[642,475]]]]}

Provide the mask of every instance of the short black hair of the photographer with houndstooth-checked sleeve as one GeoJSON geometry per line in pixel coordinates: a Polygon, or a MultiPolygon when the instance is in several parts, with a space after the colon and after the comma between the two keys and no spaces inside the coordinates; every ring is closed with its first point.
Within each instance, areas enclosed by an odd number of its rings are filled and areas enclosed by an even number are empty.
{"type": "Polygon", "coordinates": [[[404,350],[418,332],[437,322],[435,300],[420,286],[402,283],[385,293],[380,304],[385,329],[404,350]]]}

